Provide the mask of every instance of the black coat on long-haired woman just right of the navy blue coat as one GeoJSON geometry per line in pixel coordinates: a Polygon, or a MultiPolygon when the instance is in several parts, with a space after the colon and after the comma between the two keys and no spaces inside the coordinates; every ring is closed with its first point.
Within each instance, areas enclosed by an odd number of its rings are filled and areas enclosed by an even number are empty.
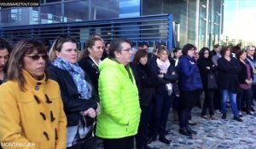
{"type": "MultiPolygon", "coordinates": [[[[217,66],[215,66],[212,62],[211,58],[204,58],[204,57],[200,57],[197,60],[197,66],[199,68],[199,72],[201,75],[201,82],[203,85],[203,89],[207,89],[207,75],[210,73],[216,73],[217,72],[217,66]],[[207,67],[210,67],[210,69],[207,69],[207,67]]],[[[217,80],[216,80],[217,81],[217,80]]]]}

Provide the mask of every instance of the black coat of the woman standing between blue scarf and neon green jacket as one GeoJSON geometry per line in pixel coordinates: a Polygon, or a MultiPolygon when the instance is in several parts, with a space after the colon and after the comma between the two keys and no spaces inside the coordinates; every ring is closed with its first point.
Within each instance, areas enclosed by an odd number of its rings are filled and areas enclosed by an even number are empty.
{"type": "Polygon", "coordinates": [[[100,76],[98,66],[96,66],[96,64],[93,62],[93,60],[90,59],[89,56],[79,60],[79,66],[89,75],[91,83],[96,89],[96,94],[98,95],[98,80],[100,76]]]}

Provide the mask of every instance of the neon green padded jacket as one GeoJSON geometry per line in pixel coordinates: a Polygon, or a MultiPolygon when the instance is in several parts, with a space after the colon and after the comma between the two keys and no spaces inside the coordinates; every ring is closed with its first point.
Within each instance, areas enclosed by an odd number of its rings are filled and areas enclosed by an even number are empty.
{"type": "Polygon", "coordinates": [[[141,109],[131,69],[132,82],[125,66],[114,60],[103,60],[99,70],[102,112],[97,117],[96,135],[106,139],[136,135],[141,109]]]}

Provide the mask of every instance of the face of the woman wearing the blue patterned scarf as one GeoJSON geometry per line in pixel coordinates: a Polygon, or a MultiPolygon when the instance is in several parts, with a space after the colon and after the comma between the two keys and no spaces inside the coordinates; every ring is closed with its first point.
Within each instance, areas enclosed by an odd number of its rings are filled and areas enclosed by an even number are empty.
{"type": "Polygon", "coordinates": [[[63,43],[61,51],[56,51],[56,55],[67,62],[74,64],[78,62],[78,49],[76,43],[63,43]]]}

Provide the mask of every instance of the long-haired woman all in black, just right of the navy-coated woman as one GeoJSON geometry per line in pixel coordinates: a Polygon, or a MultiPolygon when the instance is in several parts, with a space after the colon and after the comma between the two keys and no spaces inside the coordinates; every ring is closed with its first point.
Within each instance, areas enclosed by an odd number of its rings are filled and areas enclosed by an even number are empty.
{"type": "MultiPolygon", "coordinates": [[[[197,61],[197,66],[201,75],[201,82],[203,85],[203,90],[205,93],[205,100],[202,107],[201,117],[208,119],[207,110],[209,110],[210,118],[216,119],[214,117],[214,107],[213,107],[213,97],[214,91],[217,88],[208,88],[208,75],[213,74],[217,71],[217,66],[212,62],[212,55],[210,49],[204,47],[199,52],[199,59],[197,61]]],[[[213,77],[214,81],[215,77],[213,77]]]]}

